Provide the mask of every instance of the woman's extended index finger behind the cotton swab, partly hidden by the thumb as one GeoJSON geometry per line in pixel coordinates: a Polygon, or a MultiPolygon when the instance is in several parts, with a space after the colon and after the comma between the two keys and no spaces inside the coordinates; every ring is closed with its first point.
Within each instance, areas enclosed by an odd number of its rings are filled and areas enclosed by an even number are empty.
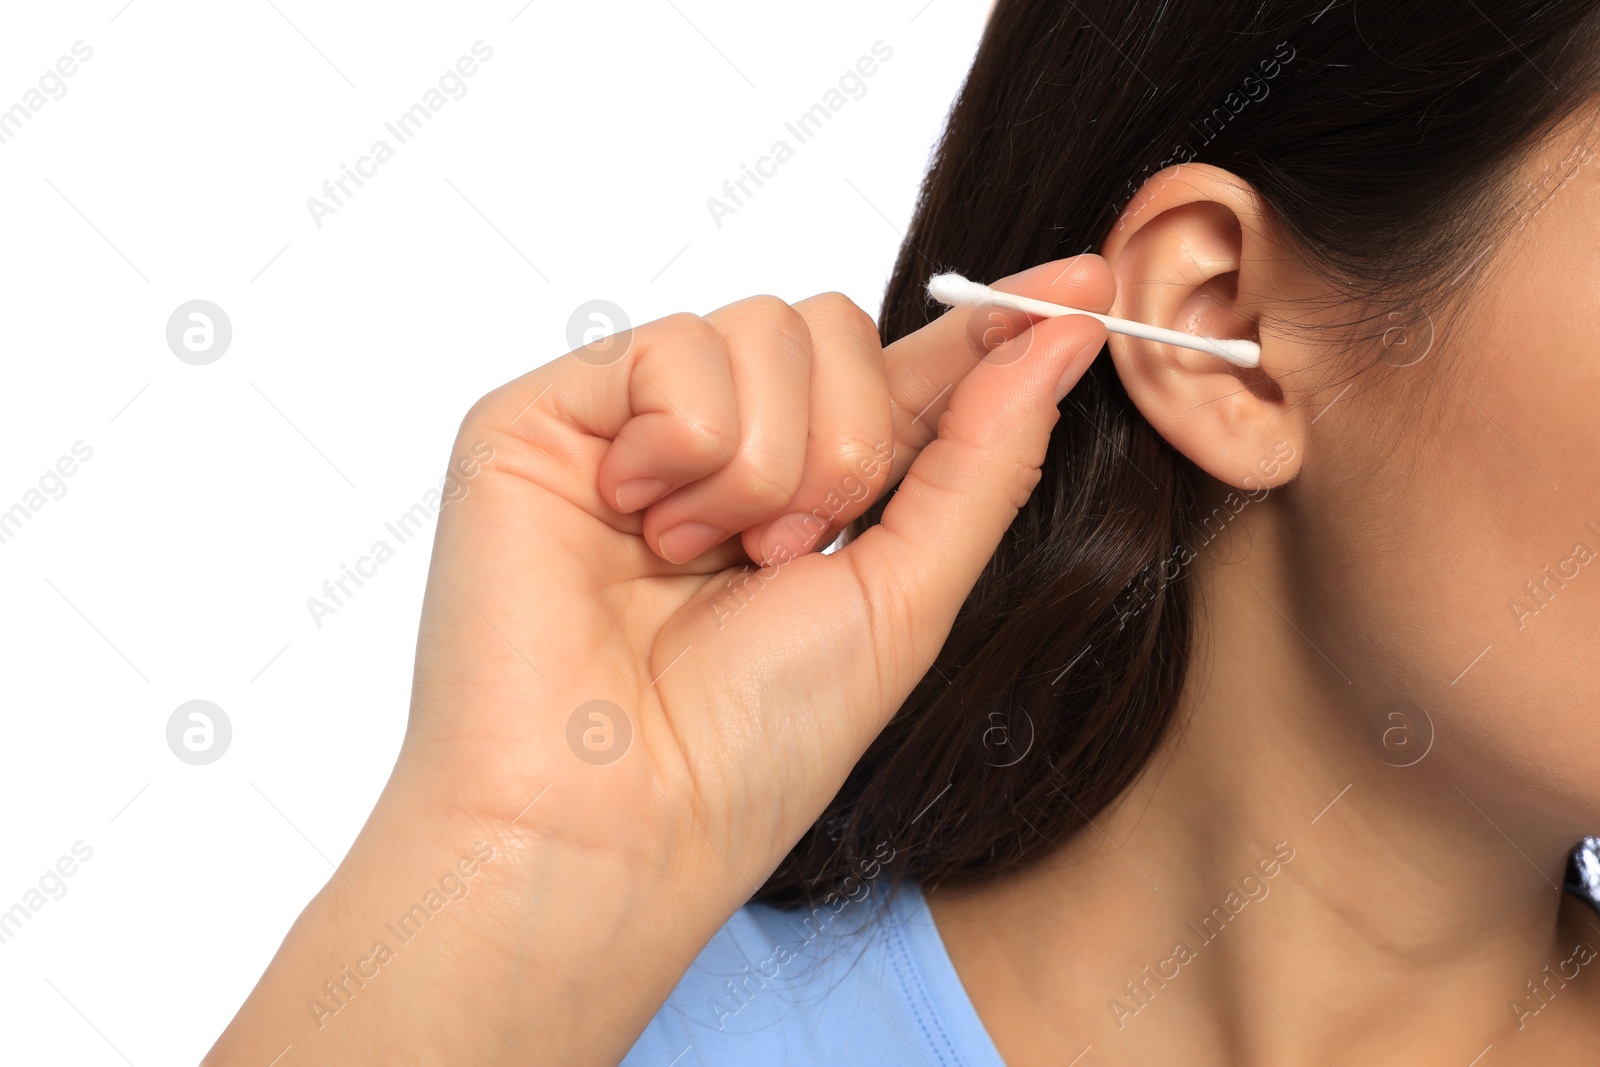
{"type": "MultiPolygon", "coordinates": [[[[1042,262],[990,285],[1005,293],[1099,314],[1110,310],[1117,288],[1110,266],[1093,253],[1042,262]]],[[[899,482],[917,453],[936,437],[939,416],[949,406],[955,386],[994,349],[1029,328],[1043,342],[1048,341],[1043,331],[1062,326],[1053,318],[1037,318],[1014,309],[1002,312],[997,304],[952,307],[883,349],[894,413],[890,485],[899,482]]]]}

